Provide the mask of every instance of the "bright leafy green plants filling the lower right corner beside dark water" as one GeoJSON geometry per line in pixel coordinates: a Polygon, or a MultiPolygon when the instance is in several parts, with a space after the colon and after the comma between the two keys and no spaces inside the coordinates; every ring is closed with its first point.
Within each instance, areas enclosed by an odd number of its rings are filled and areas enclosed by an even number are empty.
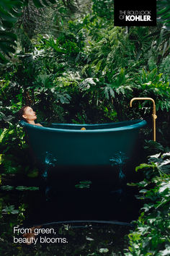
{"type": "Polygon", "coordinates": [[[129,234],[130,247],[125,255],[169,255],[170,153],[158,153],[140,164],[146,178],[138,184],[144,200],[136,228],[129,234]]]}

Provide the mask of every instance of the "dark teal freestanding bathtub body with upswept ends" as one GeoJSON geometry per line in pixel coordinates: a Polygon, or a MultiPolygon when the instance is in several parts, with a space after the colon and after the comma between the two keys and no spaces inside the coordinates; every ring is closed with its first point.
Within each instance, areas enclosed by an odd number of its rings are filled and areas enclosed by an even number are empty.
{"type": "Polygon", "coordinates": [[[110,166],[117,153],[132,158],[145,120],[109,124],[51,124],[39,127],[20,121],[40,163],[56,166],[110,166]],[[86,130],[81,130],[85,127],[86,130]]]}

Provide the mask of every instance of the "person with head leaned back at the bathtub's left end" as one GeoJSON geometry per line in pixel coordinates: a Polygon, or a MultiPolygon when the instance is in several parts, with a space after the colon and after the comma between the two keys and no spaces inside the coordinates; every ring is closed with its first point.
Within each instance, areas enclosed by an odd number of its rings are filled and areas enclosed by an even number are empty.
{"type": "Polygon", "coordinates": [[[27,121],[28,124],[33,124],[42,127],[41,124],[35,123],[37,116],[35,114],[35,111],[33,111],[33,109],[30,106],[23,106],[19,110],[19,119],[27,121]]]}

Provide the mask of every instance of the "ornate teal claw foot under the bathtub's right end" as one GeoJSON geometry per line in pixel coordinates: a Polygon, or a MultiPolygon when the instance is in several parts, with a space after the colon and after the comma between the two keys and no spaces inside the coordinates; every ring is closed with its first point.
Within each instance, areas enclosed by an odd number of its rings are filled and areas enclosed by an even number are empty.
{"type": "Polygon", "coordinates": [[[125,174],[122,171],[122,166],[125,164],[127,160],[128,157],[125,155],[125,153],[122,153],[121,151],[113,155],[112,158],[109,158],[111,166],[119,166],[119,179],[125,178],[125,174]]]}

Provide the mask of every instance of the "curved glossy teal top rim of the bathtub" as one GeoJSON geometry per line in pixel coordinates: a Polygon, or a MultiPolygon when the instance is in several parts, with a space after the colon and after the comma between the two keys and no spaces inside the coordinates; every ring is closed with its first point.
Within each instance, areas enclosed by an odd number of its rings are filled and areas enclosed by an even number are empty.
{"type": "Polygon", "coordinates": [[[46,132],[64,132],[64,133],[103,133],[103,132],[120,132],[130,129],[140,129],[144,126],[146,126],[147,122],[144,119],[133,119],[129,121],[120,121],[120,122],[110,122],[110,123],[104,123],[104,124],[63,124],[63,123],[52,123],[53,125],[62,125],[62,126],[76,126],[76,127],[95,127],[95,126],[102,126],[102,125],[114,125],[114,124],[120,124],[120,127],[112,127],[107,129],[58,129],[58,128],[50,128],[50,127],[40,127],[33,124],[28,124],[26,121],[19,121],[19,124],[22,127],[26,127],[28,129],[37,129],[39,131],[46,131],[46,132]],[[135,124],[130,124],[132,122],[135,122],[135,124]],[[129,124],[128,124],[129,123],[129,124]],[[127,124],[127,125],[125,125],[127,124]]]}

